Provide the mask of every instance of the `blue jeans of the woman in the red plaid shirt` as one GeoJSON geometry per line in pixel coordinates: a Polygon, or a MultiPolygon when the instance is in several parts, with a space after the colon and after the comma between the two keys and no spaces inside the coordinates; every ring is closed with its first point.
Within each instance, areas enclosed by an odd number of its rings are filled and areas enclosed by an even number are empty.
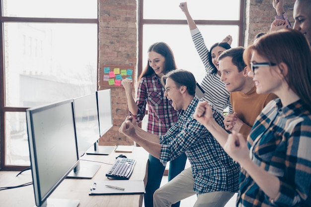
{"type": "MultiPolygon", "coordinates": [[[[176,159],[169,161],[168,181],[172,180],[176,175],[185,169],[186,160],[187,156],[185,153],[183,153],[176,159]]],[[[152,156],[151,154],[149,154],[148,162],[148,178],[144,200],[145,207],[153,207],[153,195],[160,187],[165,167],[156,157],[152,156]]],[[[176,204],[172,205],[172,207],[179,207],[179,205],[180,202],[177,202],[176,204]]]]}

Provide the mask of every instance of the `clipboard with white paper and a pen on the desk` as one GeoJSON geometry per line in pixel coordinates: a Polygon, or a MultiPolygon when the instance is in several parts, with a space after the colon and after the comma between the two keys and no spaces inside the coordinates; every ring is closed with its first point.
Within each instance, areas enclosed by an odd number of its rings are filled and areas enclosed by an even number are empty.
{"type": "Polygon", "coordinates": [[[104,180],[93,181],[88,195],[132,195],[145,193],[143,180],[104,180]]]}

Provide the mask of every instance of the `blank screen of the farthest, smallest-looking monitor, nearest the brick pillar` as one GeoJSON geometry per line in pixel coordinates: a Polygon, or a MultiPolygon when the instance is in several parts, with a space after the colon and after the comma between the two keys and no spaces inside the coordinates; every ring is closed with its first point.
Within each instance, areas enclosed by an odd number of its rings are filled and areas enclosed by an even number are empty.
{"type": "Polygon", "coordinates": [[[96,91],[99,132],[102,137],[112,127],[111,91],[110,89],[96,91]]]}

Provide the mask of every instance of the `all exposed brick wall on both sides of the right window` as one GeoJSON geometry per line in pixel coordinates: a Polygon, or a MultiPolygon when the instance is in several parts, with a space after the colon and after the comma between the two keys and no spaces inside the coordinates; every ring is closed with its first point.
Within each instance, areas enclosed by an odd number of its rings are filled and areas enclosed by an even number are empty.
{"type": "MultiPolygon", "coordinates": [[[[251,44],[259,32],[267,32],[276,11],[272,0],[245,0],[244,46],[251,44]]],[[[137,3],[138,0],[99,0],[99,65],[137,65],[137,3]]],[[[294,25],[295,0],[286,0],[285,10],[294,25]]],[[[106,89],[102,87],[100,89],[106,89]]],[[[118,130],[128,115],[123,87],[111,87],[113,127],[100,138],[100,144],[133,144],[118,130]]]]}

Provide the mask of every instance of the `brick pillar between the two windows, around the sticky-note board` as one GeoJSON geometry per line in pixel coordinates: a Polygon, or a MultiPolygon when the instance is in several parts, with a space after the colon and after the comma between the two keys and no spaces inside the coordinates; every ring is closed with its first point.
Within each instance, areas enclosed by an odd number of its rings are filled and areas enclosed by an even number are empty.
{"type": "MultiPolygon", "coordinates": [[[[99,0],[99,65],[137,64],[137,0],[99,0]]],[[[105,87],[99,88],[106,89],[105,87]]],[[[133,141],[118,132],[128,115],[125,90],[111,87],[113,127],[101,145],[130,145],[133,141]]]]}

